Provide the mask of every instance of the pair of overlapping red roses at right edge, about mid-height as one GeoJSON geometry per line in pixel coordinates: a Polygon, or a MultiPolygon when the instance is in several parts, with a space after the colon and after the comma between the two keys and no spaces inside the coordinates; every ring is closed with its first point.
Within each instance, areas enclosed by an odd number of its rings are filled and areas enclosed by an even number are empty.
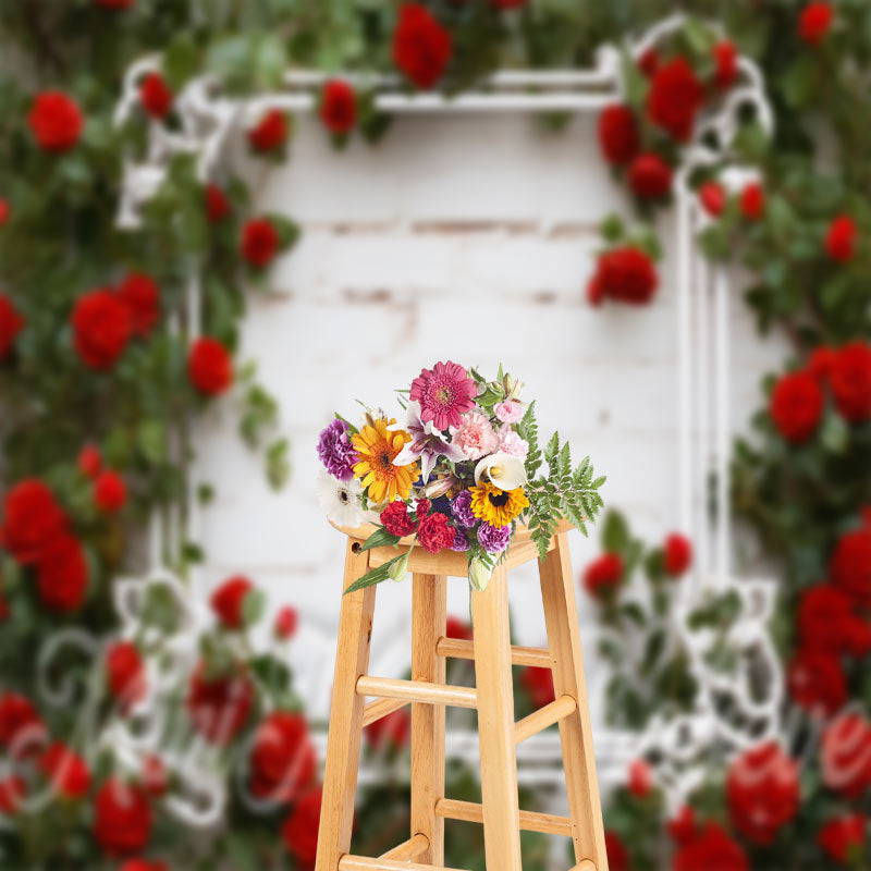
{"type": "Polygon", "coordinates": [[[871,419],[871,344],[857,340],[841,348],[817,348],[806,369],[777,381],[769,409],[786,441],[801,444],[814,434],[825,407],[824,388],[847,422],[871,419]]]}

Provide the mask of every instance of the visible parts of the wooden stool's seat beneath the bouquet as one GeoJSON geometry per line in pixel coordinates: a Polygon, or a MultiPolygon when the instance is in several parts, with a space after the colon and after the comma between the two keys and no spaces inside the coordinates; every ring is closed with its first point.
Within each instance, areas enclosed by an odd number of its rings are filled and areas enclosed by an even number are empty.
{"type": "MultiPolygon", "coordinates": [[[[339,526],[332,520],[330,526],[358,542],[358,548],[360,547],[359,542],[366,541],[379,528],[373,524],[363,524],[355,527],[339,526]]],[[[556,532],[551,539],[549,550],[553,550],[555,547],[556,537],[567,532],[569,529],[574,529],[574,526],[568,520],[560,520],[556,525],[556,532]]],[[[439,553],[427,553],[424,548],[419,544],[413,544],[413,542],[414,536],[405,536],[405,538],[398,540],[395,547],[372,548],[369,551],[369,568],[378,568],[379,565],[390,562],[394,556],[410,550],[412,553],[408,557],[409,572],[419,572],[425,575],[447,575],[452,578],[465,578],[468,575],[468,560],[465,553],[449,550],[440,551],[439,553]]],[[[505,568],[515,568],[518,565],[528,563],[530,560],[537,560],[538,555],[538,547],[532,541],[529,528],[525,524],[517,524],[503,565],[505,568]]]]}

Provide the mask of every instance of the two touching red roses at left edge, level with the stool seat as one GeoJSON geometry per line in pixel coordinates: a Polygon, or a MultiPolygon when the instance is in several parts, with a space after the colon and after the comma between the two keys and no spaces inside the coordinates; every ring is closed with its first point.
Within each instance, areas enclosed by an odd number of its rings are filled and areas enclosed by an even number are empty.
{"type": "Polygon", "coordinates": [[[24,478],[3,498],[0,544],[34,569],[42,604],[63,614],[82,605],[88,586],[85,551],[69,526],[66,512],[38,478],[24,478]]]}

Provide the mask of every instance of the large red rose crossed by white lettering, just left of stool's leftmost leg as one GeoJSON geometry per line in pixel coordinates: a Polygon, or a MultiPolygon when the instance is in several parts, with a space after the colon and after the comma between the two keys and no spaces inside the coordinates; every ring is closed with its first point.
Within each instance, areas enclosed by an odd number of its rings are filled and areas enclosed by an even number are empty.
{"type": "Polygon", "coordinates": [[[252,792],[271,801],[295,801],[311,783],[317,768],[308,724],[300,714],[271,713],[258,727],[252,746],[252,792]]]}

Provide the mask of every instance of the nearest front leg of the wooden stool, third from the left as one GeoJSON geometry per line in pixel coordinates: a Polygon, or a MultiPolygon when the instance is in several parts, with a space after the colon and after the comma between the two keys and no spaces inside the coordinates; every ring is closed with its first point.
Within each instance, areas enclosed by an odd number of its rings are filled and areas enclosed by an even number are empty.
{"type": "Polygon", "coordinates": [[[483,592],[471,592],[478,740],[487,871],[522,871],[508,587],[498,567],[483,592]]]}

